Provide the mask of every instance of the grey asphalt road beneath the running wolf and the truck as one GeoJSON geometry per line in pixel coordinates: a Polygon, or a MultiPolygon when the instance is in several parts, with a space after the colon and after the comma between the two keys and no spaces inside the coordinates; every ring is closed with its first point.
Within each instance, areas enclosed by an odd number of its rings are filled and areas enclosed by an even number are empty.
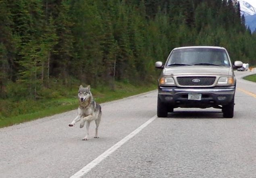
{"type": "Polygon", "coordinates": [[[236,72],[234,118],[177,108],[156,117],[157,91],[102,103],[100,139],[68,127],[77,111],[0,129],[0,178],[255,178],[256,84],[236,72]]]}

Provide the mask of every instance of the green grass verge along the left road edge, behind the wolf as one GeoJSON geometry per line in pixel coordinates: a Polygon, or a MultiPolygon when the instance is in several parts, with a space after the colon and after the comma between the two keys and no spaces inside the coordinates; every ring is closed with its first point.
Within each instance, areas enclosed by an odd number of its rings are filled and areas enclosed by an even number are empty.
{"type": "MultiPolygon", "coordinates": [[[[111,90],[108,87],[98,87],[96,89],[91,89],[95,101],[98,103],[104,103],[108,101],[113,101],[116,99],[122,99],[131,95],[136,95],[139,93],[144,93],[147,91],[152,91],[156,89],[156,84],[135,86],[129,83],[117,83],[115,89],[111,90]]],[[[78,88],[78,87],[77,87],[78,88]]],[[[59,114],[62,112],[67,112],[70,110],[75,110],[78,107],[77,101],[77,90],[74,91],[74,96],[68,98],[58,98],[58,99],[44,99],[39,101],[21,101],[24,106],[19,104],[15,105],[16,110],[27,110],[26,114],[17,114],[15,116],[4,117],[0,113],[0,128],[6,126],[12,126],[14,124],[19,124],[22,122],[27,122],[35,120],[38,118],[52,116],[54,114],[59,114]],[[32,106],[28,106],[28,105],[32,106]],[[36,112],[35,112],[36,111],[36,112]]],[[[13,106],[12,106],[13,107],[13,106]]],[[[6,112],[11,112],[12,109],[6,109],[6,112]],[[9,110],[9,111],[8,111],[9,110]]]]}

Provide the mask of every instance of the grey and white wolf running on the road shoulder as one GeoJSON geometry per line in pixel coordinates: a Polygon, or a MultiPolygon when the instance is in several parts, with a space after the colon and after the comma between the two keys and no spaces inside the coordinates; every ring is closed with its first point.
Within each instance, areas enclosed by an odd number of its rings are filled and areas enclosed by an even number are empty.
{"type": "Polygon", "coordinates": [[[98,137],[98,127],[101,119],[101,106],[94,101],[92,93],[90,91],[90,85],[87,87],[79,86],[78,90],[79,108],[77,117],[69,124],[70,127],[74,126],[76,122],[81,120],[80,128],[82,128],[86,122],[87,134],[83,140],[88,139],[89,126],[92,120],[95,120],[96,130],[94,138],[98,137]]]}

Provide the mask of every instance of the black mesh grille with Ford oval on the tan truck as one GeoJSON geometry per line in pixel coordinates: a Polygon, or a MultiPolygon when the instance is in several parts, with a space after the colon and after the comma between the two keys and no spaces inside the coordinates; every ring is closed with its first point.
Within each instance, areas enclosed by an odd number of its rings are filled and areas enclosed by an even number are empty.
{"type": "Polygon", "coordinates": [[[210,86],[214,84],[216,77],[177,77],[181,86],[210,86]]]}

